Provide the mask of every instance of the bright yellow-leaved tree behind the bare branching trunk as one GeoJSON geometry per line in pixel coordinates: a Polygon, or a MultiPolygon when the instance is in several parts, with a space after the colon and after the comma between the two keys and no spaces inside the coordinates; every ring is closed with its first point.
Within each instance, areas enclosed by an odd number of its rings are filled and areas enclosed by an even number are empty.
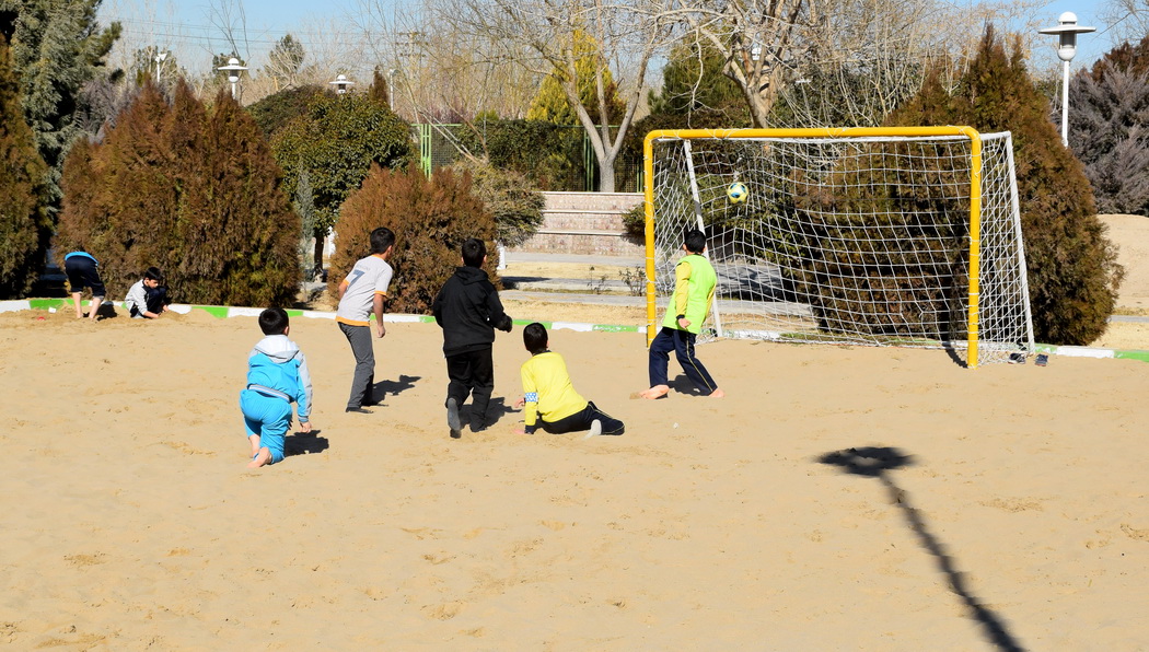
{"type": "MultiPolygon", "coordinates": [[[[615,84],[614,76],[599,54],[597,44],[584,31],[574,32],[574,78],[577,80],[578,96],[586,107],[586,111],[599,118],[599,92],[595,88],[595,71],[602,69],[602,80],[606,86],[607,98],[607,122],[615,124],[623,117],[626,104],[618,98],[618,85],[615,84]]],[[[531,101],[531,107],[526,111],[529,121],[546,121],[555,124],[580,124],[578,115],[571,107],[570,101],[562,90],[562,79],[570,72],[566,70],[554,70],[547,75],[539,86],[539,92],[531,101]]]]}

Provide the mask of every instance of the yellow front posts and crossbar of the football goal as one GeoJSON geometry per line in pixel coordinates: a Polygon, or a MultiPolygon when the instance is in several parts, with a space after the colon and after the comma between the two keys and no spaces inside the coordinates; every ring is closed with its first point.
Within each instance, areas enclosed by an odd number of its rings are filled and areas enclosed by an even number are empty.
{"type": "MultiPolygon", "coordinates": [[[[646,300],[647,346],[657,331],[654,249],[654,141],[661,139],[739,138],[913,138],[964,135],[970,139],[970,287],[966,316],[966,366],[978,367],[978,301],[981,270],[981,134],[970,126],[893,126],[826,129],[680,129],[656,130],[642,141],[643,193],[646,196],[646,300]]],[[[717,297],[715,297],[717,301],[717,297]]]]}

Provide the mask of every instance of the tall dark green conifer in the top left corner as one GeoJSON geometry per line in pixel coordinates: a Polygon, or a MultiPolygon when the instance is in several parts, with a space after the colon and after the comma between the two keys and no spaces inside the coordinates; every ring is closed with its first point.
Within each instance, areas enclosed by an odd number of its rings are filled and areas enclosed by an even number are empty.
{"type": "Polygon", "coordinates": [[[101,0],[0,0],[8,13],[14,65],[20,77],[24,117],[48,164],[49,210],[59,208],[60,174],[72,142],[83,133],[90,110],[85,84],[106,77],[107,56],[119,38],[119,24],[101,30],[95,15],[101,0]]]}

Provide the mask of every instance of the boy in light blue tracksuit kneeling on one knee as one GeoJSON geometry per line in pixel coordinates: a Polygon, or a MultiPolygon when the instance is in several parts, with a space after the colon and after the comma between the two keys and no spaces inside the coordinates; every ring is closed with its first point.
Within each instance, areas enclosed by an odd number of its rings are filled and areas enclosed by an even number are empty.
{"type": "Polygon", "coordinates": [[[292,403],[299,413],[299,429],[311,432],[311,374],[303,351],[287,339],[287,312],[282,308],[264,310],[260,328],[267,336],[247,356],[247,388],[239,393],[239,409],[252,443],[249,468],[283,460],[292,403]]]}

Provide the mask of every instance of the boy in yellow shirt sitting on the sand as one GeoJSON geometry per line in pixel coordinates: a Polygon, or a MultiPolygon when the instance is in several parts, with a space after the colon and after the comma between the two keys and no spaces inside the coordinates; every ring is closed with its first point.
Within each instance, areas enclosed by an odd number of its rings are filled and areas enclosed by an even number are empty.
{"type": "Polygon", "coordinates": [[[574,391],[566,362],[547,349],[542,324],[535,321],[523,329],[523,344],[531,359],[523,363],[524,396],[515,403],[515,408],[526,406],[525,426],[516,433],[531,435],[541,427],[555,435],[578,430],[591,430],[587,436],[623,434],[622,421],[574,391]]]}

